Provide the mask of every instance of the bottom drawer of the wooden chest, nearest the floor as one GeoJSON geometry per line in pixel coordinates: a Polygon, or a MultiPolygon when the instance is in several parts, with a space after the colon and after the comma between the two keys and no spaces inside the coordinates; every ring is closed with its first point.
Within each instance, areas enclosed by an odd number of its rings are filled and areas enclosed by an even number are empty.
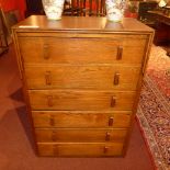
{"type": "Polygon", "coordinates": [[[38,143],[39,156],[121,156],[123,143],[38,143]]]}

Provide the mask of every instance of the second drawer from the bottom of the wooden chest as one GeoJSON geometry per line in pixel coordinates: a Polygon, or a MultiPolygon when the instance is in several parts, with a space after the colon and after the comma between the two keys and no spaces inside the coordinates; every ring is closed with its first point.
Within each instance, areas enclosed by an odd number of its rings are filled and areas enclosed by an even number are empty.
{"type": "Polygon", "coordinates": [[[38,143],[123,143],[127,129],[36,128],[35,134],[38,143]]]}

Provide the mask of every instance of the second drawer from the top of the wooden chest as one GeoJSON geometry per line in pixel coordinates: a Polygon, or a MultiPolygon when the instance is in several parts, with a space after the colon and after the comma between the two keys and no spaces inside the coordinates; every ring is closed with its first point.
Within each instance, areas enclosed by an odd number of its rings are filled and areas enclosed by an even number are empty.
{"type": "Polygon", "coordinates": [[[136,90],[139,72],[139,67],[122,65],[25,67],[29,89],[136,90]]]}

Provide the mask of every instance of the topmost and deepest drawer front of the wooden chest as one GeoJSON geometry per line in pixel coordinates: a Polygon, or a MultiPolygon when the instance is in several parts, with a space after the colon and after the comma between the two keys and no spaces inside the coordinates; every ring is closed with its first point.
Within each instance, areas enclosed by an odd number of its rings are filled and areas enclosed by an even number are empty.
{"type": "Polygon", "coordinates": [[[19,37],[25,63],[38,64],[140,64],[146,39],[97,37],[19,37]]]}

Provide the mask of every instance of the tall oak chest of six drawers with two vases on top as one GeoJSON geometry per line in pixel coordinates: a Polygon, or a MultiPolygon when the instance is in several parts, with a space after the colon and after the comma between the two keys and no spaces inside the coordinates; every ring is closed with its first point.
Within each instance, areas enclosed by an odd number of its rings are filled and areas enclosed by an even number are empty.
{"type": "Polygon", "coordinates": [[[125,154],[152,35],[134,19],[33,15],[13,26],[39,156],[125,154]]]}

